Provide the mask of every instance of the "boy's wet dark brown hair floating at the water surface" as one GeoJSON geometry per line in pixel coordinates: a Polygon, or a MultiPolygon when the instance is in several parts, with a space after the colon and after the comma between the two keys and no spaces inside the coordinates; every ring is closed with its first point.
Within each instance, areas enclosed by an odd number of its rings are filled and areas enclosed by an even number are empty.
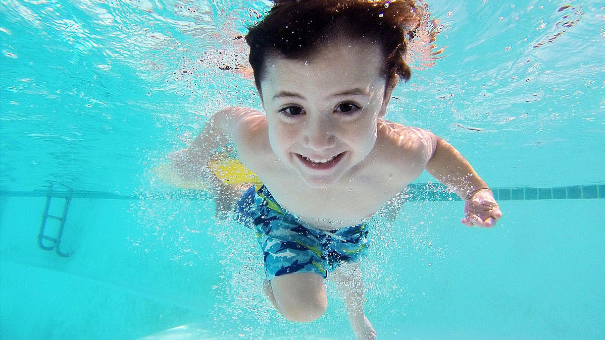
{"type": "Polygon", "coordinates": [[[404,61],[407,40],[420,27],[424,7],[414,0],[276,0],[267,16],[249,27],[246,42],[254,81],[261,91],[267,56],[301,59],[312,54],[328,37],[345,34],[379,43],[385,54],[384,75],[395,86],[397,75],[407,81],[410,66],[404,61]]]}

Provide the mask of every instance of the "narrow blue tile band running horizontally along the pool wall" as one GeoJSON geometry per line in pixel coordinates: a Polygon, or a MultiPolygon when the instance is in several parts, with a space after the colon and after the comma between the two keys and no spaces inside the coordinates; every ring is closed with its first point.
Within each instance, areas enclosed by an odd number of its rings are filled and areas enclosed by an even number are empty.
{"type": "MultiPolygon", "coordinates": [[[[502,200],[549,200],[549,199],[605,199],[605,184],[570,185],[568,187],[510,187],[492,188],[495,199],[502,200]]],[[[47,197],[47,190],[0,190],[0,196],[7,197],[47,197]]],[[[436,182],[408,185],[408,201],[427,202],[460,200],[456,194],[445,190],[436,182]]],[[[65,197],[68,191],[53,191],[53,197],[65,197]]],[[[74,190],[72,198],[87,199],[204,199],[209,194],[201,190],[172,190],[146,194],[115,194],[105,191],[74,190]]]]}

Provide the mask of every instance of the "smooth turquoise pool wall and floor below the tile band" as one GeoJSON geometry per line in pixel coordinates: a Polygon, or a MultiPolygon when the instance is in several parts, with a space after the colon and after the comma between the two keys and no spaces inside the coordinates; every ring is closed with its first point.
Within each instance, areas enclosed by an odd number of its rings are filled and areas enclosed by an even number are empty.
{"type": "MultiPolygon", "coordinates": [[[[152,234],[146,246],[134,244],[153,229],[133,213],[141,208],[134,200],[73,199],[62,245],[70,257],[44,251],[37,242],[44,204],[44,197],[0,196],[3,339],[137,338],[191,322],[221,324],[221,336],[350,336],[333,289],[327,314],[309,325],[284,322],[272,310],[258,322],[234,297],[224,300],[233,319],[217,321],[216,287],[231,278],[213,261],[174,260],[179,240],[153,245],[152,234]]],[[[456,201],[408,202],[396,223],[376,229],[364,275],[368,318],[381,338],[605,337],[605,200],[501,204],[505,217],[493,229],[460,225],[456,201]]],[[[212,211],[208,202],[195,207],[212,211]]],[[[199,237],[200,245],[212,241],[199,237]]],[[[200,249],[200,258],[239,253],[200,249]]],[[[266,301],[259,306],[268,309],[266,301]]]]}

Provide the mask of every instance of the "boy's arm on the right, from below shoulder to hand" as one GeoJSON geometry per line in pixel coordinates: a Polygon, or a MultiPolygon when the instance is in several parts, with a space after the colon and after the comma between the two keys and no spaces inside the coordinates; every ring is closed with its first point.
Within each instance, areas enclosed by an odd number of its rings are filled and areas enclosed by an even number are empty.
{"type": "Polygon", "coordinates": [[[488,185],[453,146],[437,136],[434,136],[433,143],[433,156],[425,169],[465,202],[461,222],[466,226],[494,226],[502,217],[502,211],[488,185]]]}

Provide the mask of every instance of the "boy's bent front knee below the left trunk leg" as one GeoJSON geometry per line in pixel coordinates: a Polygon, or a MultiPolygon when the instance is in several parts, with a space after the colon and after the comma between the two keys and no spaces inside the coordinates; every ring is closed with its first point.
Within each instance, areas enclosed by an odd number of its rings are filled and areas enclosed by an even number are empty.
{"type": "Polygon", "coordinates": [[[264,282],[264,292],[278,312],[290,321],[309,322],[328,306],[324,278],[315,273],[280,275],[264,282]]]}

